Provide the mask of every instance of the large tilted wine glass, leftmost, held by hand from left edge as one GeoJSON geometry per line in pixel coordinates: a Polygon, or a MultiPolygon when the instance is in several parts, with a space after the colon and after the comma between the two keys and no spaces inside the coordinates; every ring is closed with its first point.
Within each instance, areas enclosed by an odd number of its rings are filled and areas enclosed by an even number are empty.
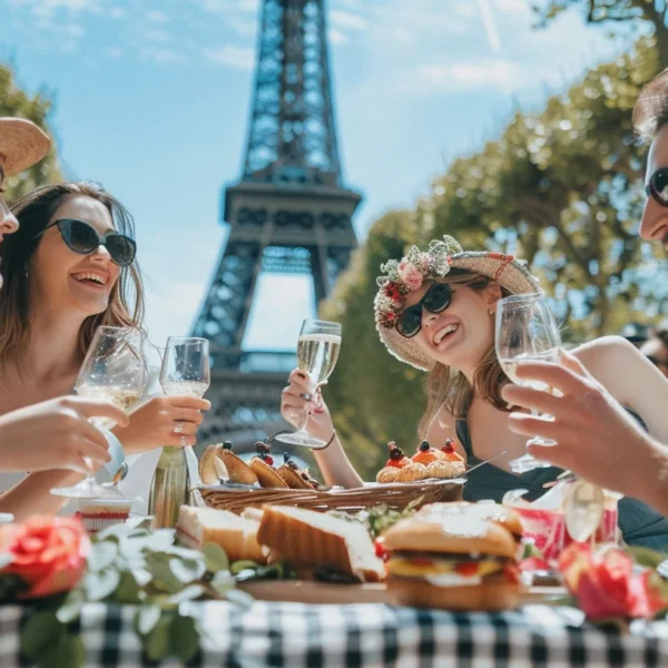
{"type": "MultiPolygon", "coordinates": [[[[132,327],[98,327],[77,377],[77,394],[102,399],[127,412],[141,397],[145,384],[144,334],[132,327]]],[[[108,418],[91,418],[90,422],[101,429],[115,424],[108,418]]],[[[84,461],[90,470],[90,460],[84,461]]],[[[90,474],[72,487],[53,488],[51,493],[70,499],[122,498],[115,487],[102,487],[90,474]]]]}

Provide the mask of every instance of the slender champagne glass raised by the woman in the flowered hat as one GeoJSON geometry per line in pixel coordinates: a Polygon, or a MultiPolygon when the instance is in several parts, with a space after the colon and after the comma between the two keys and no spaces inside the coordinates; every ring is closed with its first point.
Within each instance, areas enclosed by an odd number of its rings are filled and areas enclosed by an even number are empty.
{"type": "MultiPolygon", "coordinates": [[[[313,392],[327,382],[336,366],[341,350],[341,325],[326,321],[305,320],[297,341],[297,364],[311,376],[313,392]]],[[[306,431],[308,411],[299,411],[298,429],[292,434],[277,436],[283,443],[307,445],[314,450],[324,448],[325,442],[315,439],[306,431]]]]}

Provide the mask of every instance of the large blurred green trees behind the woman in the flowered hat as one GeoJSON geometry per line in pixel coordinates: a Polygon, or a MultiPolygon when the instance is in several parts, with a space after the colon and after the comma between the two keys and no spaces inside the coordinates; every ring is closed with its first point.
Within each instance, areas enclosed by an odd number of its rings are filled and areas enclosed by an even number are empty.
{"type": "Polygon", "coordinates": [[[468,249],[528,259],[559,299],[567,343],[666,312],[666,265],[637,236],[647,148],[631,127],[636,98],[657,69],[651,41],[639,40],[542,109],[517,112],[497,139],[436,177],[414,210],[391,212],[371,227],[321,310],[344,331],[323,395],[365,480],[387,459],[389,440],[409,455],[420,442],[424,374],[387,353],[373,322],[380,265],[411,244],[450,234],[468,249]]]}

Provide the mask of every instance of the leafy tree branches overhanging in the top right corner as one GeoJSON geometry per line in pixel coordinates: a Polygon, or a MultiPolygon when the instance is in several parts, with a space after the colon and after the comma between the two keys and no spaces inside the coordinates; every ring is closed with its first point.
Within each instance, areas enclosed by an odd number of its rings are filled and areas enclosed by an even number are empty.
{"type": "Polygon", "coordinates": [[[656,0],[536,0],[539,26],[546,26],[562,12],[578,8],[588,23],[609,26],[629,21],[654,28],[661,69],[668,67],[668,3],[656,0]]]}

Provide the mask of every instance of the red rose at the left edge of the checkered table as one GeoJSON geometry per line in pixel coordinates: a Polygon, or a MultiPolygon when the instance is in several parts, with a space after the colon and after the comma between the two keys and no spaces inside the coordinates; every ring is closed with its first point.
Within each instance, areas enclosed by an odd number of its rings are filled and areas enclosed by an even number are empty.
{"type": "Polygon", "coordinates": [[[0,525],[0,553],[12,557],[0,573],[19,576],[30,586],[23,598],[72,589],[84,576],[90,540],[73,518],[32,517],[0,525]]]}

